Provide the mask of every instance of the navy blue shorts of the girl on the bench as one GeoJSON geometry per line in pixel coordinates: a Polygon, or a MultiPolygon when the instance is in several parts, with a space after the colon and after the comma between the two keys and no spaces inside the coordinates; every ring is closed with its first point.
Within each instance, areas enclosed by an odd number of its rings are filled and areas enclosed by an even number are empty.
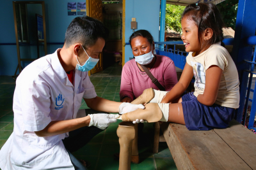
{"type": "Polygon", "coordinates": [[[208,131],[226,128],[235,116],[234,108],[218,104],[205,106],[197,100],[193,92],[182,96],[182,109],[186,127],[189,131],[208,131]]]}

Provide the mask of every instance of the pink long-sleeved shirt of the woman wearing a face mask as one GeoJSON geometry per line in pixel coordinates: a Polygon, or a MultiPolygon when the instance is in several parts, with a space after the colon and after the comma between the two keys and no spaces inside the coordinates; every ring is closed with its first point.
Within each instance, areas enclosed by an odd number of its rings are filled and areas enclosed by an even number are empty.
{"type": "MultiPolygon", "coordinates": [[[[166,91],[170,91],[178,82],[174,62],[169,57],[156,55],[156,63],[150,69],[150,72],[157,78],[166,91]]],[[[147,73],[140,70],[135,59],[125,63],[122,70],[120,100],[127,96],[133,101],[142,94],[143,90],[150,87],[159,90],[157,86],[152,83],[147,73]]]]}

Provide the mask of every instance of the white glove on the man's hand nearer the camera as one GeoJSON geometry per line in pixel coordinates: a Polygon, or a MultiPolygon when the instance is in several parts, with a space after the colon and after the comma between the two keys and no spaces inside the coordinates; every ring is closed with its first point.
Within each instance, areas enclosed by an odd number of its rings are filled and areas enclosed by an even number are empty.
{"type": "Polygon", "coordinates": [[[98,113],[90,115],[91,121],[89,126],[95,126],[99,129],[106,129],[109,124],[116,122],[116,118],[120,117],[120,115],[114,114],[106,114],[106,113],[98,113]]]}

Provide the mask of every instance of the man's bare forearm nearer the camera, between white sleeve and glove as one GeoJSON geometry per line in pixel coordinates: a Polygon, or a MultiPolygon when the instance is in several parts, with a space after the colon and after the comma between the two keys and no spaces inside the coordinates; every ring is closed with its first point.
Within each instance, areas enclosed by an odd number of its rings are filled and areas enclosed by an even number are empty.
{"type": "Polygon", "coordinates": [[[52,121],[42,131],[36,131],[35,134],[39,137],[54,136],[65,132],[74,131],[80,127],[90,124],[90,116],[83,118],[75,118],[71,120],[52,121]]]}

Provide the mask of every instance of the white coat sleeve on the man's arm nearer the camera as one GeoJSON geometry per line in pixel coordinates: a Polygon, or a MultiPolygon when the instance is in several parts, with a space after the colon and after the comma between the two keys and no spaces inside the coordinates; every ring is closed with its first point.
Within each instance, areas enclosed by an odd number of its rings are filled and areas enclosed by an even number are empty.
{"type": "Polygon", "coordinates": [[[20,104],[26,131],[41,131],[50,122],[50,88],[44,80],[37,78],[32,83],[20,85],[20,104]]]}

